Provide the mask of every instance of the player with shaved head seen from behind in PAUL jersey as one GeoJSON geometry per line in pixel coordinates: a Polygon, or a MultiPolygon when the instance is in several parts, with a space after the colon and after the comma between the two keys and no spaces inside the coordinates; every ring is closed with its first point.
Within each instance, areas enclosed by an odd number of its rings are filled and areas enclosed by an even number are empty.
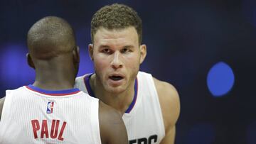
{"type": "Polygon", "coordinates": [[[42,18],[28,31],[27,43],[36,80],[6,91],[0,143],[128,142],[119,112],[73,88],[79,54],[68,22],[42,18]]]}

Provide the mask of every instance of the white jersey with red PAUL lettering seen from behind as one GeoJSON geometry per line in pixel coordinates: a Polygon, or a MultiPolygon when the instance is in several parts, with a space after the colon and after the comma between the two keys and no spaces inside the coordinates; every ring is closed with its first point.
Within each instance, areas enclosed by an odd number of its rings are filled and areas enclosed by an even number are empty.
{"type": "Polygon", "coordinates": [[[7,90],[0,143],[99,144],[99,101],[79,89],[48,91],[23,86],[7,90]]]}

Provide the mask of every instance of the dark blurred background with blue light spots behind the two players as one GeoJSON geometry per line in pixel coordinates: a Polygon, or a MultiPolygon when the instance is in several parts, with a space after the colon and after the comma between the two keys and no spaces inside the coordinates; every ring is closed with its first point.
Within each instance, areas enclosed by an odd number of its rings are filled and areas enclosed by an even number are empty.
{"type": "Polygon", "coordinates": [[[32,84],[26,34],[44,16],[65,18],[80,46],[78,75],[93,72],[87,45],[93,13],[122,3],[143,21],[141,70],[173,84],[181,99],[177,144],[256,143],[256,1],[0,1],[0,97],[32,84]]]}

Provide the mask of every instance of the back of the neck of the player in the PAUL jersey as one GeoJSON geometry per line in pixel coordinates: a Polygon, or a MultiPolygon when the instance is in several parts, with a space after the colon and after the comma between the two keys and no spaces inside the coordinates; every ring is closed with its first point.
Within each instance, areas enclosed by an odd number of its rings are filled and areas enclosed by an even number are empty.
{"type": "Polygon", "coordinates": [[[48,90],[73,89],[75,83],[74,68],[68,63],[63,63],[65,65],[41,63],[39,67],[36,67],[36,81],[33,85],[48,90]]]}

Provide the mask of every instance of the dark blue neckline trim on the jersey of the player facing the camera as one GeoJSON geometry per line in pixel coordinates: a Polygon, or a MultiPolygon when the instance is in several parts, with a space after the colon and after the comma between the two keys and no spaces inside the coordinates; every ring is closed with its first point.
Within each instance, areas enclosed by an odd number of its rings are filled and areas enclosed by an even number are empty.
{"type": "MultiPolygon", "coordinates": [[[[90,87],[90,77],[91,76],[92,76],[92,74],[85,76],[85,78],[84,78],[85,87],[87,89],[88,94],[92,97],[95,97],[95,94],[92,92],[92,87],[90,87]]],[[[134,84],[134,98],[132,99],[132,103],[129,105],[129,107],[125,111],[125,113],[129,113],[132,111],[132,108],[134,107],[136,100],[137,100],[137,92],[138,92],[138,79],[135,80],[135,84],[134,84]]]]}

